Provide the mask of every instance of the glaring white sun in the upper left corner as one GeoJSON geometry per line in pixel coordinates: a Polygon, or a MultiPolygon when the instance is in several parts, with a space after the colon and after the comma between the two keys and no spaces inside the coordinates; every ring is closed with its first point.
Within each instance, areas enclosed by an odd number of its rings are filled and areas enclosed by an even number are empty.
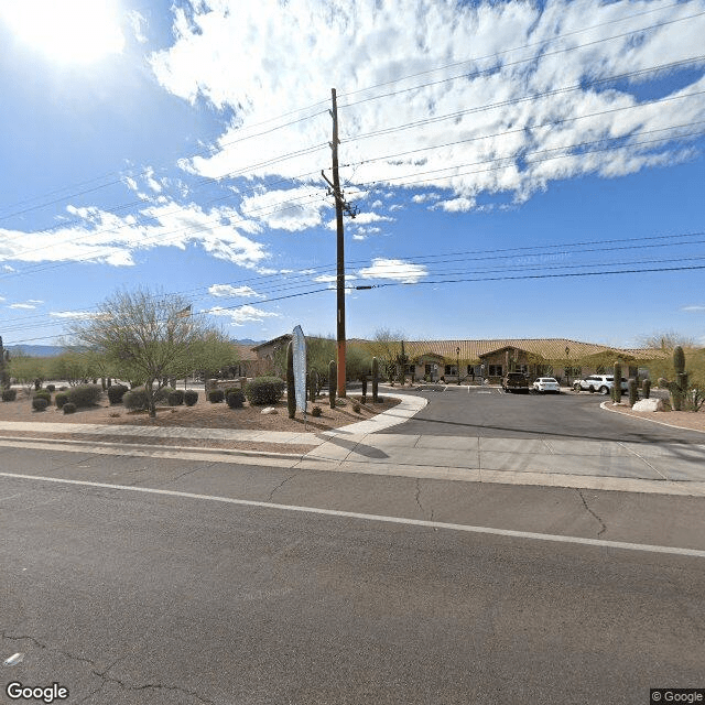
{"type": "Polygon", "coordinates": [[[3,0],[0,20],[19,40],[56,62],[89,63],[124,46],[110,0],[3,0]]]}

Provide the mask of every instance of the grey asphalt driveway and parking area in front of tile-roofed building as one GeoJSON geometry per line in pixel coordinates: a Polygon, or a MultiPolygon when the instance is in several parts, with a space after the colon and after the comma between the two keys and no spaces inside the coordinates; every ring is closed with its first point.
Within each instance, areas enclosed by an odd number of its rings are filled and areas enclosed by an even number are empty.
{"type": "MultiPolygon", "coordinates": [[[[409,393],[425,397],[429,405],[411,420],[382,433],[705,443],[703,433],[669,429],[604,411],[599,404],[609,398],[600,394],[507,394],[501,389],[454,386],[425,389],[429,391],[414,390],[409,393]]],[[[384,391],[406,393],[398,389],[384,391]]],[[[383,395],[383,392],[380,394],[383,395]]]]}

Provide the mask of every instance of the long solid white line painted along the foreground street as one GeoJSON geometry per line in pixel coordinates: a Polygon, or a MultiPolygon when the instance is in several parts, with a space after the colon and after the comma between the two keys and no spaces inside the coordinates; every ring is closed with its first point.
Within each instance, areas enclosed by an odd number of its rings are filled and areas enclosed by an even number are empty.
{"type": "Polygon", "coordinates": [[[470,527],[467,524],[455,524],[443,521],[425,521],[422,519],[409,519],[405,517],[386,517],[383,514],[366,514],[355,511],[339,511],[337,509],[322,509],[318,507],[299,507],[296,505],[276,505],[274,502],[262,502],[251,499],[236,499],[232,497],[218,497],[214,495],[196,495],[194,492],[180,492],[170,489],[155,489],[151,487],[132,487],[130,485],[110,485],[108,482],[91,482],[87,480],[69,480],[56,477],[42,477],[39,475],[21,475],[14,473],[0,473],[0,477],[13,479],[26,479],[41,482],[56,482],[63,485],[77,485],[79,487],[99,487],[101,489],[127,490],[130,492],[142,492],[145,495],[164,495],[178,497],[182,499],[198,499],[212,502],[223,502],[226,505],[239,505],[242,507],[259,507],[261,509],[278,509],[281,511],[295,511],[307,514],[324,514],[327,517],[343,517],[346,519],[360,519],[364,521],[377,521],[383,523],[408,524],[411,527],[427,527],[430,529],[448,529],[451,531],[462,531],[466,533],[485,533],[497,536],[509,536],[511,539],[529,539],[534,541],[553,541],[556,543],[575,543],[587,546],[601,546],[605,549],[621,549],[625,551],[644,551],[648,553],[668,553],[672,555],[684,555],[697,558],[705,558],[705,551],[697,549],[681,549],[679,546],[660,546],[647,543],[629,543],[625,541],[607,541],[604,539],[584,539],[582,536],[561,536],[551,533],[535,533],[532,531],[513,531],[511,529],[495,529],[491,527],[470,527]]]}

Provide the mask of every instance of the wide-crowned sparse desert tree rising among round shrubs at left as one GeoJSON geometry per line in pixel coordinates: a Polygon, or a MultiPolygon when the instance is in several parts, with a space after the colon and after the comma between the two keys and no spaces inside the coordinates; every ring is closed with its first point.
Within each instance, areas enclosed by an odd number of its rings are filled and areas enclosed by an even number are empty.
{"type": "Polygon", "coordinates": [[[235,346],[193,316],[183,297],[142,288],[113,294],[94,318],[76,322],[70,330],[77,345],[144,384],[150,416],[156,415],[154,393],[164,379],[237,361],[235,346]]]}

